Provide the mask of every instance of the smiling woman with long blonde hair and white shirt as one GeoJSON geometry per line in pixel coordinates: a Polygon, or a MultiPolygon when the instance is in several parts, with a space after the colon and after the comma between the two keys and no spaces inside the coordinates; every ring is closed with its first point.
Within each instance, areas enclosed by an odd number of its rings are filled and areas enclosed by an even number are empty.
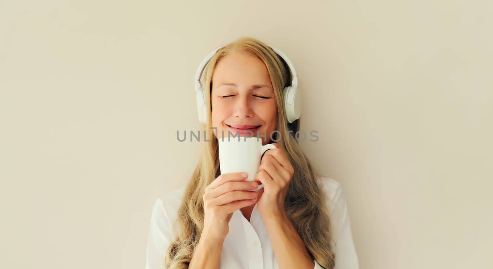
{"type": "Polygon", "coordinates": [[[282,90],[290,81],[283,58],[257,39],[239,38],[213,55],[204,84],[212,141],[188,185],[156,200],[147,269],[358,268],[341,185],[318,176],[295,139],[299,119],[286,119],[282,90]],[[266,133],[263,145],[277,141],[253,185],[219,170],[219,134],[245,128],[266,133]]]}

